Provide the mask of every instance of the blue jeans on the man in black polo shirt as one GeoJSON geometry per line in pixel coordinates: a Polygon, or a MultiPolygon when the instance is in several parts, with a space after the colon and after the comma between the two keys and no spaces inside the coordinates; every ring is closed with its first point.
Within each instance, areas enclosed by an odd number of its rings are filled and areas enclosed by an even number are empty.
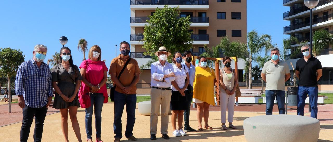
{"type": "Polygon", "coordinates": [[[305,99],[307,95],[309,95],[309,103],[311,106],[311,117],[317,118],[318,87],[298,86],[297,115],[304,115],[305,99]]]}

